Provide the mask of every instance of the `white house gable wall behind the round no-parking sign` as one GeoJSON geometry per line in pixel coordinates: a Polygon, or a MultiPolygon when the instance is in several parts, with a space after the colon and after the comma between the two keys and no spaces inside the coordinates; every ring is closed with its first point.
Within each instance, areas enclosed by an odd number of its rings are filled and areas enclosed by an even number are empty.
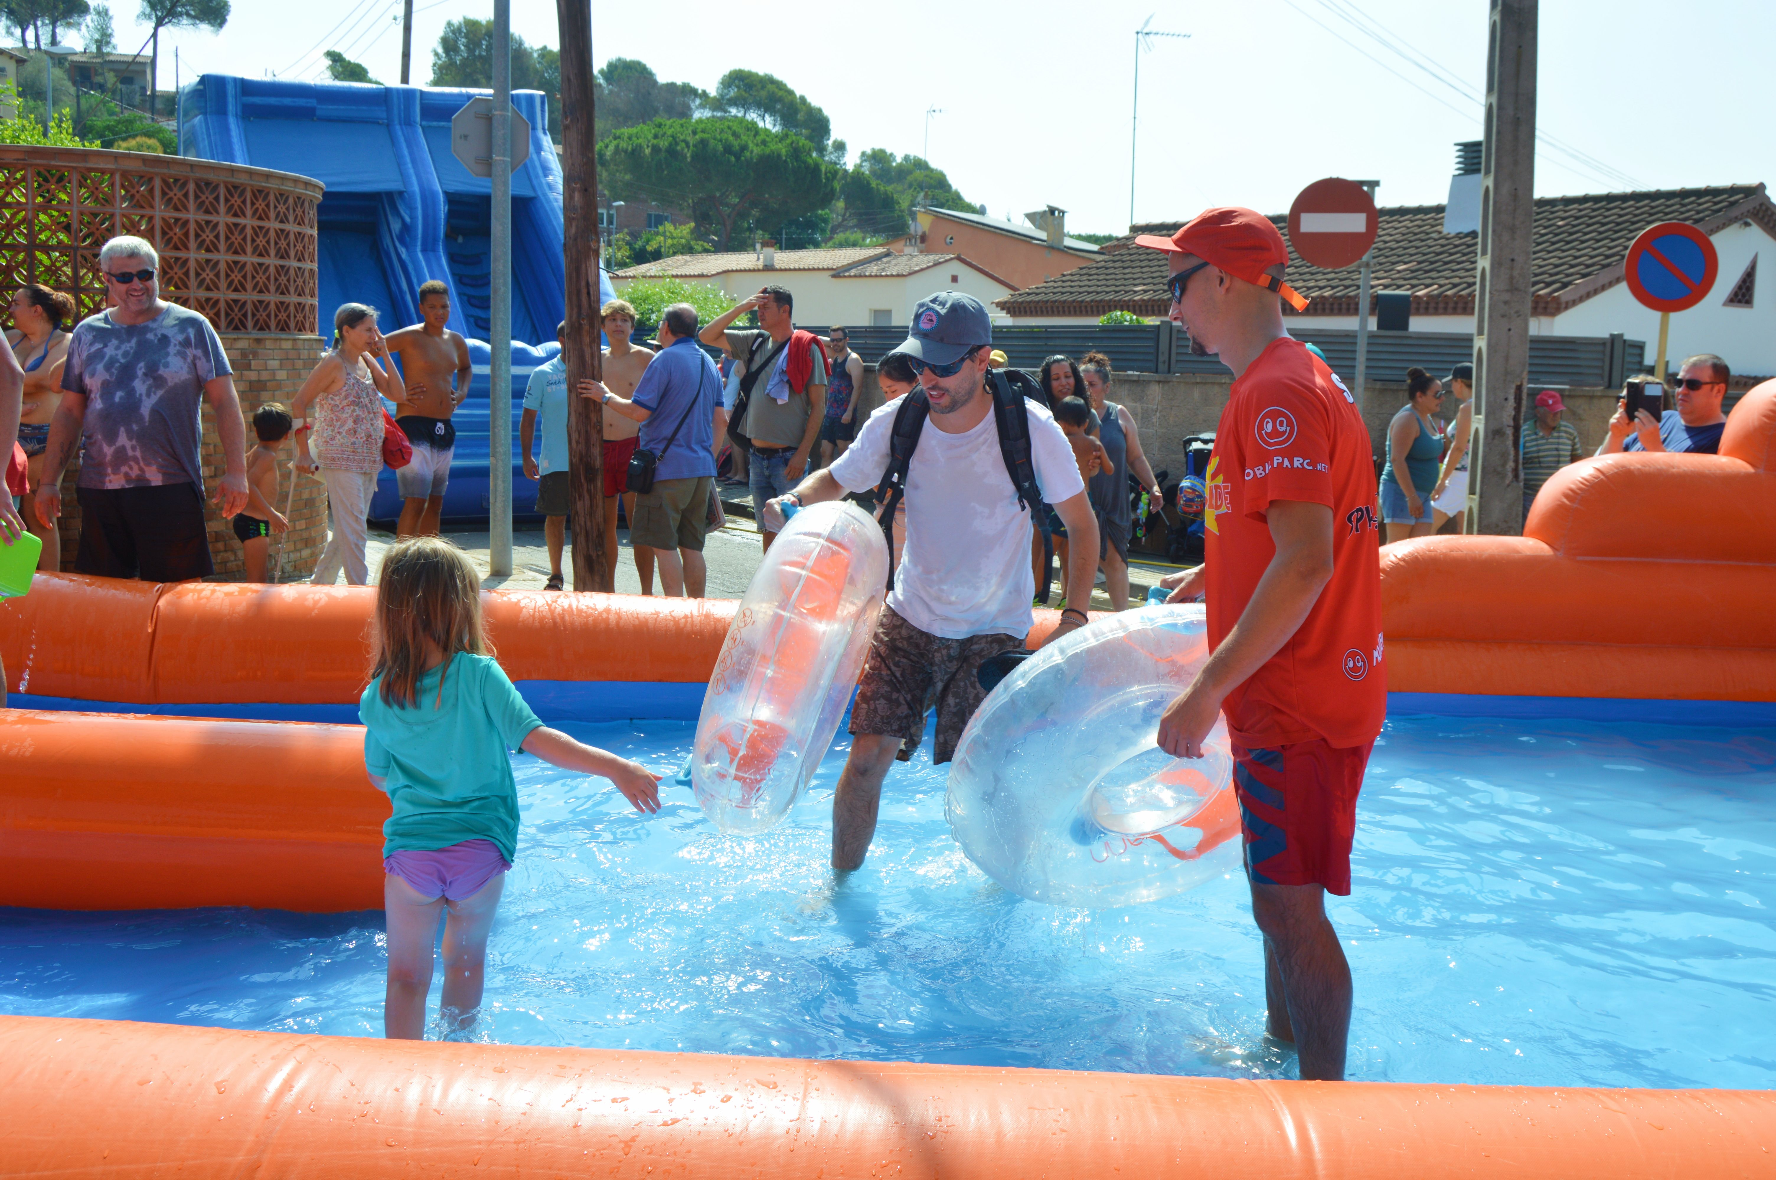
{"type": "MultiPolygon", "coordinates": [[[[1666,358],[1677,367],[1684,357],[1717,353],[1737,374],[1772,376],[1776,374],[1776,238],[1753,222],[1740,222],[1714,234],[1714,250],[1721,256],[1714,289],[1696,307],[1671,316],[1666,358]],[[1753,305],[1723,307],[1753,254],[1762,259],[1753,305]]],[[[1543,328],[1550,335],[1625,332],[1632,341],[1646,341],[1648,367],[1659,350],[1659,312],[1636,303],[1625,282],[1543,323],[1550,325],[1543,328]]]]}

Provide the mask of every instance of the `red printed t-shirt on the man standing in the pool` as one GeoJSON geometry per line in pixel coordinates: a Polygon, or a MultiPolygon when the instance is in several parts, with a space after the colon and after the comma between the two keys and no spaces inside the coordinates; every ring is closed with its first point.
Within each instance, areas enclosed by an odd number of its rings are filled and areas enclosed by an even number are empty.
{"type": "Polygon", "coordinates": [[[1245,747],[1364,745],[1387,713],[1375,458],[1350,390],[1288,337],[1233,383],[1215,429],[1202,515],[1211,648],[1277,552],[1265,518],[1272,500],[1332,509],[1332,580],[1300,630],[1227,694],[1227,729],[1245,747]]]}

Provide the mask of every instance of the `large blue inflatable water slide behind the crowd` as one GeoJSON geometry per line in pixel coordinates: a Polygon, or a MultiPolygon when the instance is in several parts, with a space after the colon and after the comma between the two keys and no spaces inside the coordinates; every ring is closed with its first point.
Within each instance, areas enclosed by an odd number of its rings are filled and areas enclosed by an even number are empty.
{"type": "MultiPolygon", "coordinates": [[[[469,339],[474,360],[469,399],[455,415],[456,460],[444,497],[444,518],[458,523],[487,520],[488,509],[492,183],[449,149],[451,115],[478,94],[487,90],[202,75],[179,99],[186,156],[295,172],[327,186],[316,316],[323,337],[332,337],[334,309],[348,302],[378,309],[385,332],[419,323],[419,284],[449,284],[449,326],[469,339]]],[[[511,500],[515,515],[529,518],[536,484],[515,458],[517,422],[531,371],[559,351],[554,332],[567,280],[549,105],[540,90],[519,90],[511,105],[531,124],[529,160],[511,174],[511,500]]],[[[602,271],[599,298],[614,298],[602,271]]],[[[394,472],[384,468],[371,516],[394,520],[400,509],[394,472]]]]}

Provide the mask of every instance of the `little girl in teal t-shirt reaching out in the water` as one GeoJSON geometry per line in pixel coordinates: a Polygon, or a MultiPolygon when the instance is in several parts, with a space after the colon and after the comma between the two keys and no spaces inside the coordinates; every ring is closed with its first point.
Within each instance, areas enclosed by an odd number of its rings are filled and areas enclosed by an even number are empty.
{"type": "Polygon", "coordinates": [[[545,728],[494,662],[481,582],[449,541],[396,541],[377,586],[377,662],[359,701],[364,767],[389,793],[382,825],[389,988],[384,1033],[423,1040],[432,946],[444,917],[446,1033],[474,1026],[487,935],[519,839],[508,751],[595,774],[636,811],[659,811],[659,775],[545,728]]]}

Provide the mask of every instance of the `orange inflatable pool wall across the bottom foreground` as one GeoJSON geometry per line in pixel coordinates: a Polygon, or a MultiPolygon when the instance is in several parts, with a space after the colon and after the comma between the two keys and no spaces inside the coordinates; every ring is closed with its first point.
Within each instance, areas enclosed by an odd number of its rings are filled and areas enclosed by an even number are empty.
{"type": "Polygon", "coordinates": [[[0,1017],[5,1175],[1769,1176],[1776,1095],[1256,1082],[0,1017]]]}

